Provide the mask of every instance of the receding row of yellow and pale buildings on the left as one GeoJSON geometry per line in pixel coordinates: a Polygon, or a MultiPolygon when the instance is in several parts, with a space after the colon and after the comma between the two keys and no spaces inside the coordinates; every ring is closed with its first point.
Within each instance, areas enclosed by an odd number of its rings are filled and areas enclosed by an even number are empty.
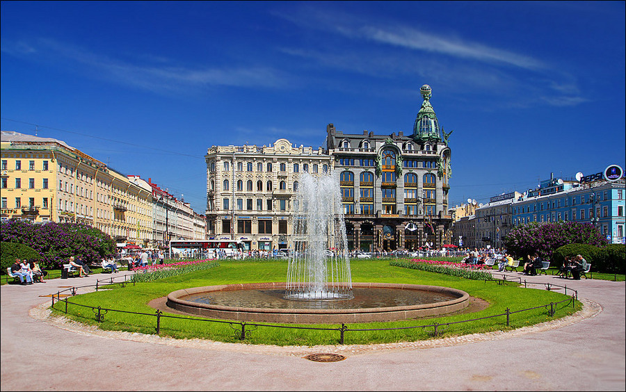
{"type": "Polygon", "coordinates": [[[3,220],[87,224],[137,247],[205,238],[204,215],[167,188],[122,174],[54,138],[2,131],[0,181],[3,220]]]}

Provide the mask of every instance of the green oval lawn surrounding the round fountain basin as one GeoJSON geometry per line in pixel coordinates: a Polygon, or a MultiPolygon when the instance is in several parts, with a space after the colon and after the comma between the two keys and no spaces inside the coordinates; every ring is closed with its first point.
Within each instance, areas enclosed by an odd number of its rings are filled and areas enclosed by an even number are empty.
{"type": "MultiPolygon", "coordinates": [[[[487,309],[474,313],[458,313],[451,316],[403,320],[396,322],[372,322],[363,324],[349,324],[348,329],[374,329],[393,327],[412,327],[419,325],[433,325],[433,323],[456,322],[460,320],[472,320],[505,313],[506,309],[511,312],[538,307],[550,302],[560,302],[568,299],[567,296],[554,292],[536,289],[524,289],[515,284],[497,284],[495,282],[469,281],[434,272],[424,272],[408,268],[393,267],[388,260],[353,260],[351,261],[353,281],[380,282],[380,283],[408,283],[426,284],[433,286],[448,286],[466,291],[473,297],[478,297],[490,303],[487,309]]],[[[150,300],[163,297],[168,293],[180,288],[195,286],[211,286],[216,284],[254,283],[264,281],[284,281],[287,276],[287,261],[222,261],[220,266],[186,275],[179,275],[150,283],[136,284],[136,286],[111,287],[111,290],[99,291],[71,297],[70,302],[101,307],[102,309],[116,309],[136,313],[155,314],[152,307],[147,306],[150,300]]],[[[538,322],[559,318],[580,309],[581,304],[575,302],[566,306],[560,304],[556,307],[556,315],[551,317],[547,309],[541,307],[531,311],[513,313],[511,325],[506,327],[504,316],[487,318],[472,322],[463,322],[440,327],[440,336],[456,336],[479,332],[495,331],[500,329],[512,329],[533,325],[538,322]]],[[[58,303],[57,309],[65,309],[63,302],[58,303]]],[[[81,322],[95,324],[95,316],[91,309],[70,304],[68,317],[81,322]]],[[[168,313],[170,314],[170,313],[168,313]]],[[[214,341],[237,342],[236,329],[239,325],[231,327],[228,323],[198,322],[189,319],[202,319],[192,316],[186,319],[161,318],[161,335],[175,338],[208,338],[214,341]]],[[[203,319],[207,320],[207,319],[203,319]]],[[[249,324],[249,323],[248,323],[249,324]]],[[[264,323],[269,324],[269,323],[264,323]]],[[[141,332],[154,334],[156,332],[156,317],[143,316],[135,313],[120,313],[109,311],[104,316],[99,326],[102,329],[124,330],[129,332],[141,332]]],[[[289,326],[296,326],[291,325],[289,326]]],[[[303,327],[332,327],[340,325],[300,325],[303,327]]],[[[248,327],[250,328],[250,326],[248,327]]],[[[252,328],[254,329],[254,328],[252,328]]],[[[432,338],[433,328],[428,329],[399,329],[392,331],[367,331],[345,334],[346,344],[389,343],[398,341],[417,341],[432,338]]],[[[339,332],[316,331],[310,329],[291,329],[275,327],[258,327],[246,337],[246,343],[273,344],[273,345],[318,345],[337,344],[339,332]]]]}

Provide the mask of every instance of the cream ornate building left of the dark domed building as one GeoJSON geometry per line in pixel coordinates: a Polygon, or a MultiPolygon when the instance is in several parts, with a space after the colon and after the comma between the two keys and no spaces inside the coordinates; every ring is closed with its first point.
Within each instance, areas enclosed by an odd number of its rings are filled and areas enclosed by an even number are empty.
{"type": "Polygon", "coordinates": [[[207,163],[209,238],[243,241],[248,250],[293,249],[294,197],[298,176],[328,173],[323,149],[273,145],[212,146],[207,163]]]}

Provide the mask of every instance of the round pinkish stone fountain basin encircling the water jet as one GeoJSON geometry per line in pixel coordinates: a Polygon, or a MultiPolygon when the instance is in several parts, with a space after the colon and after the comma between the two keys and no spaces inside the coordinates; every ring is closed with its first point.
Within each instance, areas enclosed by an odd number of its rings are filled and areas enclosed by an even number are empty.
{"type": "MultiPolygon", "coordinates": [[[[363,296],[369,297],[371,304],[358,302],[360,303],[358,307],[350,307],[351,302],[348,300],[311,301],[307,304],[308,301],[289,301],[281,298],[287,302],[287,305],[277,305],[280,302],[277,298],[284,296],[285,286],[285,283],[274,282],[184,288],[170,293],[167,305],[186,313],[227,320],[339,324],[438,316],[465,309],[470,304],[470,295],[456,288],[419,284],[353,283],[355,299],[360,300],[363,296]],[[214,299],[206,300],[206,298],[217,297],[221,292],[232,294],[232,297],[247,298],[252,291],[274,298],[269,301],[262,300],[255,306],[250,306],[253,302],[247,299],[243,299],[243,306],[241,302],[231,305],[206,303],[216,302],[214,299]],[[378,300],[378,297],[393,297],[394,291],[404,296],[408,295],[408,300],[396,301],[394,298],[378,300]],[[275,294],[277,292],[282,292],[282,295],[275,294]],[[415,300],[411,300],[411,295],[415,295],[415,300]],[[429,299],[419,299],[422,296],[429,299]],[[205,300],[202,299],[203,297],[205,300]],[[401,302],[401,304],[394,304],[396,302],[401,302]]],[[[252,297],[255,295],[252,294],[252,297]]]]}

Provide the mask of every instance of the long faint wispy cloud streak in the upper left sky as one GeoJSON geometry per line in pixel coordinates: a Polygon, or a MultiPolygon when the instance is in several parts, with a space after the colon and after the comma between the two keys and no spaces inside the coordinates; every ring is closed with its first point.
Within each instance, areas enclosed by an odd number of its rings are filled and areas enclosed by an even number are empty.
{"type": "Polygon", "coordinates": [[[88,76],[153,92],[220,85],[274,88],[288,84],[286,76],[271,67],[246,65],[191,67],[172,65],[172,62],[165,58],[150,55],[138,56],[141,60],[133,62],[49,39],[29,43],[3,42],[2,51],[12,56],[56,63],[72,72],[78,70],[88,76]]]}

